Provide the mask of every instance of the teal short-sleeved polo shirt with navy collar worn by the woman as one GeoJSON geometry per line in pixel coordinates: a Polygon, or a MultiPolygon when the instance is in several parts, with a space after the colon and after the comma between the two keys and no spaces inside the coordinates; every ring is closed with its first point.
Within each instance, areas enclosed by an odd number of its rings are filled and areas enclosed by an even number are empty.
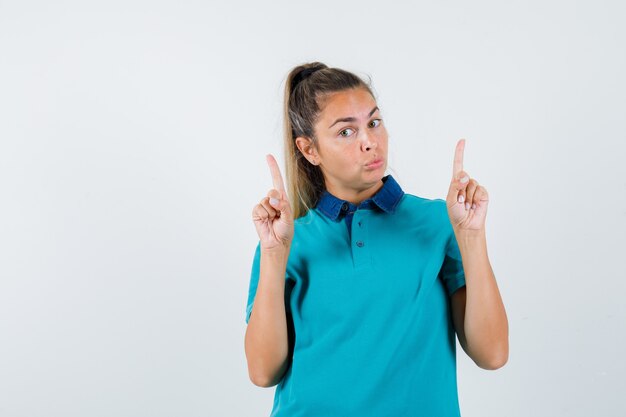
{"type": "MultiPolygon", "coordinates": [[[[295,221],[272,417],[460,416],[450,296],[465,275],[446,202],[383,181],[358,206],[325,192],[295,221]]],[[[246,323],[259,267],[257,245],[246,323]]]]}

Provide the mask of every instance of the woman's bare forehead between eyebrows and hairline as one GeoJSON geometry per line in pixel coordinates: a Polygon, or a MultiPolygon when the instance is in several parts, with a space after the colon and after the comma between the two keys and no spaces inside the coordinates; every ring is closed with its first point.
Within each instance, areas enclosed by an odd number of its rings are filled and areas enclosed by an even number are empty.
{"type": "Polygon", "coordinates": [[[355,88],[328,95],[321,106],[320,122],[332,123],[338,118],[367,118],[376,107],[376,100],[364,88],[355,88]]]}

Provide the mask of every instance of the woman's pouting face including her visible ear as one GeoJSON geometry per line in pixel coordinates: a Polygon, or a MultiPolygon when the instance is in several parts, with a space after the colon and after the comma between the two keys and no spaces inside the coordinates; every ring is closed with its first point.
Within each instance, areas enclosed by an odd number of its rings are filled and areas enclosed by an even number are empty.
{"type": "Polygon", "coordinates": [[[314,126],[316,145],[296,143],[309,162],[319,165],[326,189],[352,200],[382,186],[387,168],[387,130],[376,101],[364,88],[329,95],[314,126]]]}

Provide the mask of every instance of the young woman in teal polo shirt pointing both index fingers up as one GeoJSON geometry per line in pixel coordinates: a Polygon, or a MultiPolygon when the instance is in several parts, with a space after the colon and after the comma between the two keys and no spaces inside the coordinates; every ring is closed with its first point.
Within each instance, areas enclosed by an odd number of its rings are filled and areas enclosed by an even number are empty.
{"type": "Polygon", "coordinates": [[[286,186],[253,210],[259,235],[245,352],[272,416],[459,416],[456,339],[481,368],[508,359],[487,256],[487,190],[457,143],[446,200],[406,194],[387,166],[369,86],[314,62],[285,86],[286,186]]]}

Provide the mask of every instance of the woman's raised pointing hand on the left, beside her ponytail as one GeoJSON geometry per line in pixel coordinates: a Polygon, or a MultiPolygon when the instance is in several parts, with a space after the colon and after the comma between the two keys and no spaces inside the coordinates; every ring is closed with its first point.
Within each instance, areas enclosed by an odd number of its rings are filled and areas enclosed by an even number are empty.
{"type": "Polygon", "coordinates": [[[261,240],[261,250],[288,251],[293,239],[293,214],[278,163],[267,155],[274,188],[252,210],[252,220],[261,240]]]}

